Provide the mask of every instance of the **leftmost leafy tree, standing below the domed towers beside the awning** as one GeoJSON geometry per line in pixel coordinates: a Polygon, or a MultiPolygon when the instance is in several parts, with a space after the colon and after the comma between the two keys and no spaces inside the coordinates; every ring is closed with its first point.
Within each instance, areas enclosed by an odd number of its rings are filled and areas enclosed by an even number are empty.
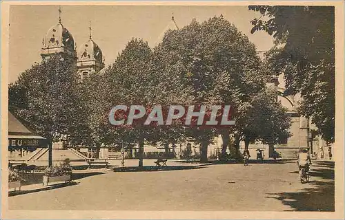
{"type": "Polygon", "coordinates": [[[52,166],[52,143],[61,135],[73,136],[81,118],[78,78],[72,64],[54,56],[40,64],[34,64],[9,86],[26,89],[26,109],[16,114],[37,134],[46,137],[49,147],[49,166],[52,166]]]}

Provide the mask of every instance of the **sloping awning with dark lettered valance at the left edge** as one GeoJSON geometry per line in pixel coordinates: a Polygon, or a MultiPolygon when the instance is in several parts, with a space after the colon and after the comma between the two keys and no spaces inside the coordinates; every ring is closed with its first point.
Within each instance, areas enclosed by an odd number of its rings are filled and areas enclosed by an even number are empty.
{"type": "Polygon", "coordinates": [[[48,147],[46,138],[37,135],[8,111],[8,149],[48,147]]]}

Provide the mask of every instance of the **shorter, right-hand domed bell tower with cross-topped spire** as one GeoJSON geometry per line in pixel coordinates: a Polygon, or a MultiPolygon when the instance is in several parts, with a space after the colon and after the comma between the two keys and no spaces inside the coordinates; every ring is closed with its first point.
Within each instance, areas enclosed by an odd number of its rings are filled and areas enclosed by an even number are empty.
{"type": "Polygon", "coordinates": [[[89,27],[89,39],[81,45],[78,51],[77,69],[81,80],[88,78],[90,74],[99,72],[104,67],[103,54],[99,46],[92,40],[91,24],[89,27]]]}

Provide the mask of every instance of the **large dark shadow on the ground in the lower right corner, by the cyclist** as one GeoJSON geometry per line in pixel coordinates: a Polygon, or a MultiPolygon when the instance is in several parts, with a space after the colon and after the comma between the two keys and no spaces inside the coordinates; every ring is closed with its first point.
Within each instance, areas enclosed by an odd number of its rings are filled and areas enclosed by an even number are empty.
{"type": "MultiPolygon", "coordinates": [[[[313,162],[311,181],[313,188],[304,188],[299,192],[270,193],[269,198],[278,199],[295,211],[335,211],[334,162],[313,162]],[[319,168],[324,166],[325,168],[319,168]],[[324,181],[313,180],[321,177],[324,181]]],[[[295,172],[293,172],[295,173],[295,172]]],[[[298,171],[296,171],[298,173],[298,171]]]]}

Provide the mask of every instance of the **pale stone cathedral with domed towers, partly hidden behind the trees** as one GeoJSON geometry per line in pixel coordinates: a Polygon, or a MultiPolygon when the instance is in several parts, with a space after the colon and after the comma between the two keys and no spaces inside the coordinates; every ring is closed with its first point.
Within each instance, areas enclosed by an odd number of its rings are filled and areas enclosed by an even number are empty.
{"type": "MultiPolygon", "coordinates": [[[[166,30],[175,29],[179,30],[177,23],[175,22],[174,17],[172,17],[170,23],[168,23],[166,29],[162,32],[161,36],[158,37],[155,45],[161,42],[163,39],[164,33],[166,30]]],[[[95,43],[92,39],[91,25],[89,27],[89,36],[88,41],[83,43],[79,50],[73,39],[72,34],[63,26],[61,23],[61,9],[59,8],[59,22],[56,25],[53,25],[52,28],[48,30],[46,36],[43,37],[42,48],[41,48],[41,58],[46,60],[55,54],[61,55],[66,61],[74,64],[77,67],[77,74],[81,80],[88,78],[92,73],[100,72],[101,69],[105,67],[104,57],[101,51],[101,48],[95,43]]],[[[260,54],[259,54],[260,55],[260,54]]],[[[292,122],[290,126],[291,137],[275,146],[267,146],[260,142],[250,143],[249,151],[252,159],[255,159],[255,154],[257,150],[264,152],[264,158],[273,157],[274,153],[277,153],[280,157],[283,158],[295,158],[299,148],[308,148],[311,150],[311,153],[317,158],[327,158],[331,157],[331,146],[326,146],[324,141],[318,137],[311,134],[311,129],[313,129],[313,124],[310,120],[302,117],[297,113],[297,104],[299,96],[283,96],[284,94],[284,75],[281,74],[277,80],[273,83],[268,83],[267,86],[275,87],[277,89],[277,99],[282,103],[284,107],[288,109],[288,114],[290,115],[292,122]]],[[[221,151],[221,137],[216,137],[213,144],[208,146],[208,157],[217,157],[217,154],[221,151]]],[[[77,159],[85,159],[85,155],[89,152],[95,151],[93,148],[83,148],[81,151],[75,151],[74,149],[67,149],[64,146],[63,142],[53,144],[55,153],[53,157],[59,159],[62,157],[68,157],[73,159],[77,156],[77,159]],[[63,150],[64,151],[58,151],[63,150]],[[62,154],[61,154],[62,153],[62,154]]],[[[171,147],[170,147],[171,148],[171,147]]],[[[186,143],[178,144],[175,149],[175,146],[172,146],[172,151],[174,151],[179,157],[181,151],[186,148],[186,143]]],[[[198,146],[194,146],[194,152],[199,151],[198,146]]],[[[244,150],[244,143],[241,144],[242,151],[244,150]]],[[[47,159],[48,153],[47,150],[42,151],[37,149],[39,153],[34,153],[28,155],[28,160],[35,161],[36,159],[47,159]]],[[[155,152],[159,151],[159,148],[154,146],[146,146],[146,152],[155,152]]],[[[101,158],[118,158],[119,152],[114,151],[112,148],[103,147],[99,157],[101,158]]]]}

